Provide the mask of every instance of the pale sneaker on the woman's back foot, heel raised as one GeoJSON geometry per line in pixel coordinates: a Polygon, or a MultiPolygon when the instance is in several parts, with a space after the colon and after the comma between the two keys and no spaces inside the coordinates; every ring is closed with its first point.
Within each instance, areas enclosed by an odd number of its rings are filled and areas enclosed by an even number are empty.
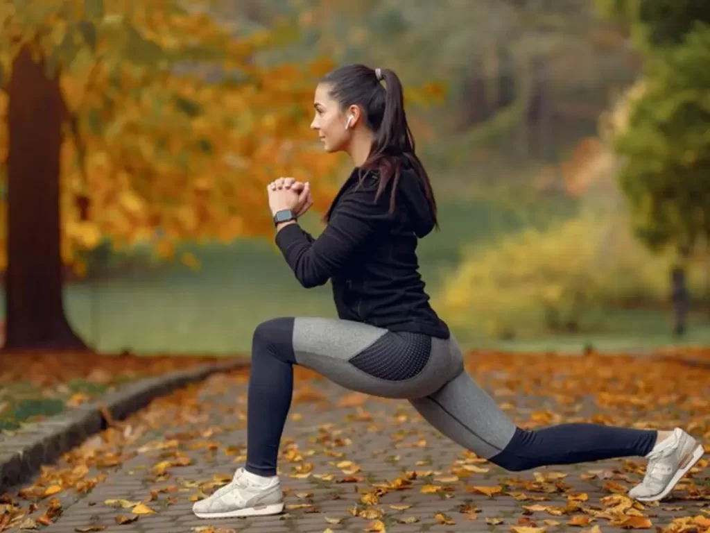
{"type": "Polygon", "coordinates": [[[664,446],[648,454],[643,482],[628,495],[641,502],[662,500],[703,456],[703,446],[680,428],[673,430],[664,446]]]}

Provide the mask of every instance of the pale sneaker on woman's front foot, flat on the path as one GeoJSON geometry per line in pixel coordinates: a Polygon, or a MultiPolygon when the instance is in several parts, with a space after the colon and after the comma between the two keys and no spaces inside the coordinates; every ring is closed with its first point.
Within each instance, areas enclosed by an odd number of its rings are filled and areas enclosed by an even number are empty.
{"type": "Polygon", "coordinates": [[[229,484],[192,505],[192,512],[198,518],[278,515],[281,511],[283,492],[278,478],[266,483],[255,483],[249,473],[244,472],[244,468],[236,470],[229,484]]]}

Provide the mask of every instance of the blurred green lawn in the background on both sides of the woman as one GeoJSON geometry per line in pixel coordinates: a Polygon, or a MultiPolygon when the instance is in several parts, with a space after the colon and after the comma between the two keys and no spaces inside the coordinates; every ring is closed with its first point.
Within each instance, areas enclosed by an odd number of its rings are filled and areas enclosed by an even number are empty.
{"type": "MultiPolygon", "coordinates": [[[[503,201],[442,201],[442,231],[423,239],[418,249],[430,296],[436,297],[449,281],[464,245],[486,247],[522,227],[544,227],[567,216],[566,209],[541,205],[535,212],[535,205],[526,210],[503,201]]],[[[315,217],[304,225],[314,234],[320,230],[315,217]]],[[[160,271],[67,284],[65,306],[72,325],[103,352],[224,356],[248,354],[254,328],[269,318],[336,316],[330,285],[303,289],[266,239],[184,248],[200,259],[200,271],[175,263],[160,271]]],[[[439,311],[447,321],[456,318],[439,311]]],[[[577,351],[587,343],[610,350],[675,343],[664,333],[671,330],[667,311],[598,311],[601,318],[593,332],[564,337],[495,341],[485,338],[476,323],[464,321],[453,329],[464,348],[528,351],[559,346],[577,351]]],[[[694,318],[684,342],[710,344],[708,323],[702,316],[694,318]]]]}

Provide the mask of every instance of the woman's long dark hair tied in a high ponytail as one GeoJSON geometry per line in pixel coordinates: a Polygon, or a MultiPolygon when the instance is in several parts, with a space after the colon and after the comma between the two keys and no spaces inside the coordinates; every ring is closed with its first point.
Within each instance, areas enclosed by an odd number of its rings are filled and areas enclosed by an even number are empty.
{"type": "Polygon", "coordinates": [[[404,90],[398,75],[387,68],[374,70],[355,64],[329,72],[321,82],[331,85],[329,93],[342,109],[353,104],[359,105],[366,125],[375,134],[370,155],[361,166],[364,170],[379,171],[380,180],[375,198],[380,198],[390,181],[393,181],[390,212],[394,212],[401,168],[406,161],[422,182],[432,219],[438,228],[434,190],[424,165],[415,154],[414,135],[407,122],[404,90]]]}

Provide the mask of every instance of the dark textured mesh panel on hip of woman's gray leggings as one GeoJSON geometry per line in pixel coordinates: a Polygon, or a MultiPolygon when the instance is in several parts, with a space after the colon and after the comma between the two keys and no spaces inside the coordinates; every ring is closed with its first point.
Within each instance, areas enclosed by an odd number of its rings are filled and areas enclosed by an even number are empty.
{"type": "Polygon", "coordinates": [[[389,332],[349,362],[371,376],[400,381],[415,377],[424,369],[431,349],[432,339],[428,335],[389,332]]]}

